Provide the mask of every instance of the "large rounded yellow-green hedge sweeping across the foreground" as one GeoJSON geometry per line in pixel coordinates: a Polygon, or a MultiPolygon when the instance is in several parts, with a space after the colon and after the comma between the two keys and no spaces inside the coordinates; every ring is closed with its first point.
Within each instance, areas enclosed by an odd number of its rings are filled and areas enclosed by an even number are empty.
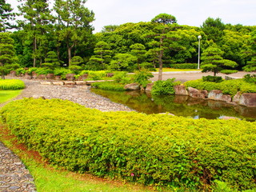
{"type": "Polygon", "coordinates": [[[21,142],[69,170],[198,190],[216,179],[256,186],[256,122],[106,113],[33,98],[0,115],[21,142]]]}

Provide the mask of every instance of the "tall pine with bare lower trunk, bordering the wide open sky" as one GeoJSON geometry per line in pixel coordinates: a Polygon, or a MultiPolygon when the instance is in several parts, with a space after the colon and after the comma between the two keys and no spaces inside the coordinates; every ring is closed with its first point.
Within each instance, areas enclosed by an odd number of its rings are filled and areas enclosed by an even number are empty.
{"type": "Polygon", "coordinates": [[[66,43],[69,65],[72,50],[81,43],[88,43],[92,35],[94,13],[85,7],[86,0],[56,0],[54,10],[57,13],[59,40],[66,43]]]}

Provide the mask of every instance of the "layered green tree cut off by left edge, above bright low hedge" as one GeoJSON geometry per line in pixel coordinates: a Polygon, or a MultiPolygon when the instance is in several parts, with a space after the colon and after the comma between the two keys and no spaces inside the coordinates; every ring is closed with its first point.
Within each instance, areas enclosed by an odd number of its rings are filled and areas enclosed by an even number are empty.
{"type": "Polygon", "coordinates": [[[2,79],[15,61],[14,40],[9,33],[0,33],[0,74],[2,79]]]}

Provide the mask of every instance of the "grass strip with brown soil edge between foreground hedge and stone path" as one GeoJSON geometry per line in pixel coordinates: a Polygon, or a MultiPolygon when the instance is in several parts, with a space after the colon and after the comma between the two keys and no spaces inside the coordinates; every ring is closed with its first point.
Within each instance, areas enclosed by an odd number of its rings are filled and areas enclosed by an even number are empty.
{"type": "MultiPolygon", "coordinates": [[[[153,187],[130,184],[122,181],[112,181],[106,178],[94,177],[90,174],[77,174],[67,170],[58,170],[42,161],[35,151],[27,150],[0,122],[0,141],[18,154],[26,168],[33,175],[38,192],[82,192],[82,191],[111,191],[111,192],[150,192],[153,187]]],[[[164,190],[163,190],[164,191],[164,190]]]]}

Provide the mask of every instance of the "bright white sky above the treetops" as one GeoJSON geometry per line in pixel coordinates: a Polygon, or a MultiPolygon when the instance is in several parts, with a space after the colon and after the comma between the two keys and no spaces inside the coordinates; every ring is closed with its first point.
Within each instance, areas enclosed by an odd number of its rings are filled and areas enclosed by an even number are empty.
{"type": "MultiPolygon", "coordinates": [[[[18,5],[17,0],[6,2],[13,8],[18,5]]],[[[211,17],[225,24],[256,26],[255,0],[87,0],[86,7],[95,14],[94,32],[107,25],[150,22],[163,13],[174,15],[180,25],[202,26],[211,17]]]]}

